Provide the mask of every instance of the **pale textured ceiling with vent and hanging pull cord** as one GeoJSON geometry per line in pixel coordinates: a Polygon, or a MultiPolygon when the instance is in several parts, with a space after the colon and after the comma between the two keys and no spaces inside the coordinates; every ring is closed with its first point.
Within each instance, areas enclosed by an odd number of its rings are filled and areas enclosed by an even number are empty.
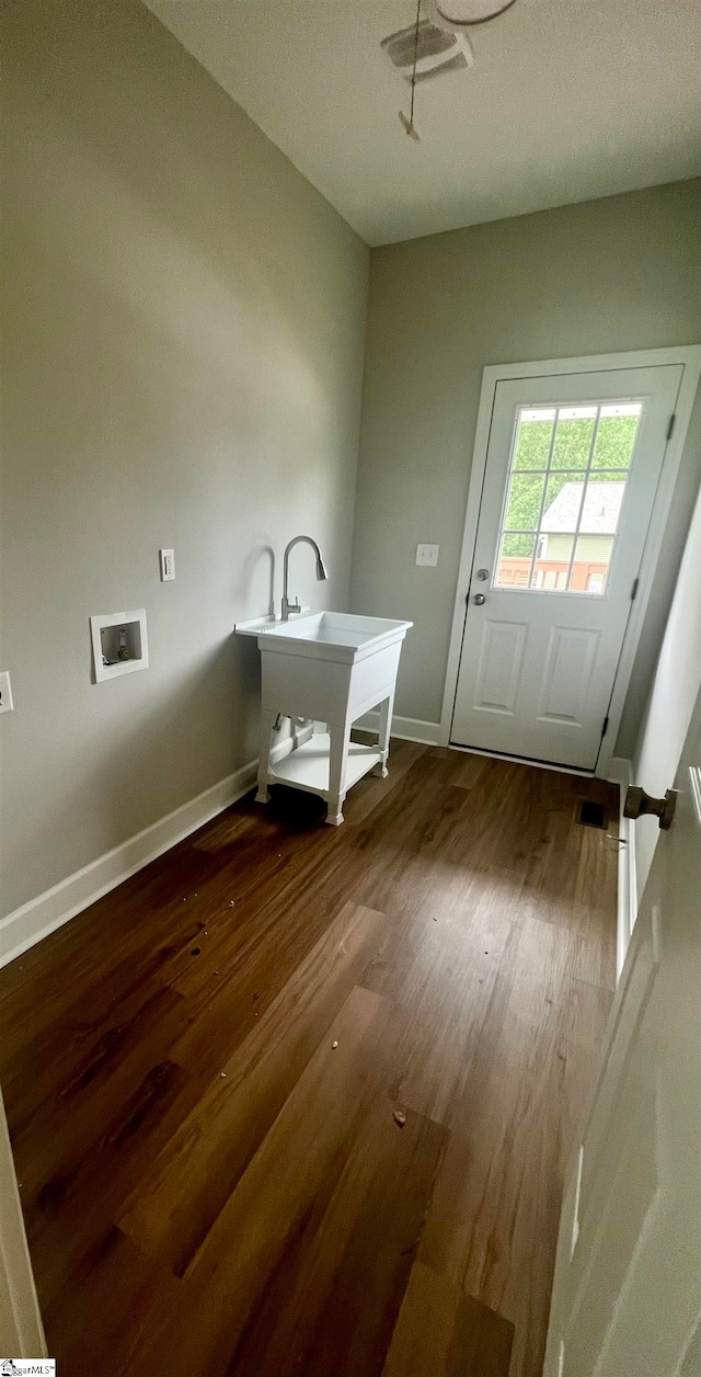
{"type": "Polygon", "coordinates": [[[701,171],[697,0],[517,0],[474,67],[408,87],[412,0],[147,0],[368,244],[701,171]]]}

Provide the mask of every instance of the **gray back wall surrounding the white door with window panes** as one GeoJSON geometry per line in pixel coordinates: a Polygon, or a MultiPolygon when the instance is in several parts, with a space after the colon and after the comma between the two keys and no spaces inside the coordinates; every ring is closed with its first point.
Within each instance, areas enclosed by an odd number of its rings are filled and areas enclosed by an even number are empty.
{"type": "MultiPolygon", "coordinates": [[[[698,182],[374,249],[350,606],[408,617],[396,712],[438,722],[482,369],[700,337],[698,182]],[[418,541],[440,544],[416,569],[418,541]]],[[[698,486],[687,445],[617,750],[631,755],[698,486]]]]}

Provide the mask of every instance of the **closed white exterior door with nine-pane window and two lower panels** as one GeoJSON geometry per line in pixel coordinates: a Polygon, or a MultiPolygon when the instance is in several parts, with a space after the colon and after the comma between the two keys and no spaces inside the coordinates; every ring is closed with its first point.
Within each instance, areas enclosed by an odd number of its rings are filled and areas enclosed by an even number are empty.
{"type": "Polygon", "coordinates": [[[498,383],[455,745],[594,770],[682,373],[498,383]]]}

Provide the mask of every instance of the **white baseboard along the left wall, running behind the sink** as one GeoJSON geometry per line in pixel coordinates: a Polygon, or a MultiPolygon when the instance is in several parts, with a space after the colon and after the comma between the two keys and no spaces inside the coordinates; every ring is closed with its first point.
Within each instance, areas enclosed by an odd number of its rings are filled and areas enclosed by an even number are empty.
{"type": "MultiPolygon", "coordinates": [[[[297,741],[301,744],[312,734],[312,726],[297,731],[297,741]]],[[[291,750],[293,739],[287,737],[272,750],[272,759],[280,759],[291,750]]],[[[256,784],[258,763],[250,760],[249,764],[235,770],[234,774],[220,779],[199,793],[197,799],[175,808],[165,818],[153,822],[151,826],[137,832],[135,837],[113,847],[103,856],[91,861],[69,874],[59,884],[36,899],[23,903],[21,909],[0,918],[0,968],[8,965],[36,942],[41,942],[63,923],[69,923],[84,909],[102,899],[103,894],[115,890],[118,884],[129,876],[143,870],[150,861],[155,861],[164,851],[169,851],[191,832],[197,832],[205,822],[216,818],[238,799],[242,799],[256,784]]]]}

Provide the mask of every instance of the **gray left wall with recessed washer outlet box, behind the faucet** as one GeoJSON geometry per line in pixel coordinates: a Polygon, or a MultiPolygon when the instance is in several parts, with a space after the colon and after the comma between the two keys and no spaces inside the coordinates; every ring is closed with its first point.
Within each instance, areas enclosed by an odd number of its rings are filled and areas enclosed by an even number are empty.
{"type": "Polygon", "coordinates": [[[368,255],[137,0],[3,26],[7,913],[256,755],[269,548],[345,606],[368,255]],[[88,617],[143,605],[93,686],[88,617]]]}

